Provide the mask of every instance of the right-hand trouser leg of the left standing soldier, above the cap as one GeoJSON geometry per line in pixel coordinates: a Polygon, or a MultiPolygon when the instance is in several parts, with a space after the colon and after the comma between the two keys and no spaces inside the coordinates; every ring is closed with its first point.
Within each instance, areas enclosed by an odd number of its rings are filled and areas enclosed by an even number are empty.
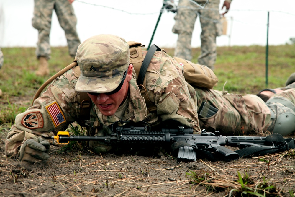
{"type": "Polygon", "coordinates": [[[77,48],[81,42],[76,30],[77,18],[75,16],[73,6],[68,2],[68,0],[61,0],[56,2],[54,9],[58,17],[59,24],[65,31],[69,54],[75,58],[77,48]]]}

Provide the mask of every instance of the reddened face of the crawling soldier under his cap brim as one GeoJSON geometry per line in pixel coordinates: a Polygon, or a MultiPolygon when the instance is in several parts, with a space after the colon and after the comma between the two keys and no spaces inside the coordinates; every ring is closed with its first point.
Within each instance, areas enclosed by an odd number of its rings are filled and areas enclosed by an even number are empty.
{"type": "Polygon", "coordinates": [[[114,113],[117,111],[119,106],[125,101],[128,95],[129,90],[129,81],[132,78],[132,64],[129,65],[127,70],[127,76],[124,80],[124,83],[121,87],[121,89],[111,95],[106,95],[104,93],[100,93],[98,95],[91,95],[87,93],[94,102],[94,104],[97,106],[99,111],[106,116],[114,115],[114,113]]]}

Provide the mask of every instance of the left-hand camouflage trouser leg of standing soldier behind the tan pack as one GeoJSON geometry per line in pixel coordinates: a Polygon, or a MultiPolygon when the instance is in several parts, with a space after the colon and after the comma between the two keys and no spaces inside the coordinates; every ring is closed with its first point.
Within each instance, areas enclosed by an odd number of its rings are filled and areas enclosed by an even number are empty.
{"type": "Polygon", "coordinates": [[[180,0],[172,32],[178,34],[174,56],[191,60],[191,36],[197,17],[197,7],[189,0],[180,0]]]}

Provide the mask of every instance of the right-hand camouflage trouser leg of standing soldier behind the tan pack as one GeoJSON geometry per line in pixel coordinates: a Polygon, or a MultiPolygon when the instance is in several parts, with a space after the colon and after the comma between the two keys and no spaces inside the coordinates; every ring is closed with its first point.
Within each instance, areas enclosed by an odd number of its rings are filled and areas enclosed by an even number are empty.
{"type": "Polygon", "coordinates": [[[209,3],[205,9],[200,10],[201,22],[201,55],[198,63],[208,66],[212,70],[216,62],[216,36],[222,34],[222,24],[218,11],[219,4],[209,3]]]}

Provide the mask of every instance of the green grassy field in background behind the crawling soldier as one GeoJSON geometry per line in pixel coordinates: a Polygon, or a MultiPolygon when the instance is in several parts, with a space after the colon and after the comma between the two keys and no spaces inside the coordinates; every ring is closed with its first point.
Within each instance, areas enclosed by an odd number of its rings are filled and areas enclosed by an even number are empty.
{"type": "MultiPolygon", "coordinates": [[[[165,48],[165,47],[162,47],[165,48]]],[[[13,123],[18,113],[31,105],[35,92],[49,77],[38,77],[35,48],[1,48],[4,65],[0,70],[0,125],[13,123]]],[[[165,48],[173,56],[174,49],[165,48]]],[[[263,46],[218,47],[214,72],[219,82],[214,89],[229,93],[255,94],[259,90],[285,86],[294,70],[295,45],[269,46],[268,86],[266,85],[266,48],[263,46]]],[[[197,62],[200,48],[193,49],[193,62],[197,62]]],[[[52,48],[49,60],[50,75],[71,64],[67,47],[52,48]]]]}

